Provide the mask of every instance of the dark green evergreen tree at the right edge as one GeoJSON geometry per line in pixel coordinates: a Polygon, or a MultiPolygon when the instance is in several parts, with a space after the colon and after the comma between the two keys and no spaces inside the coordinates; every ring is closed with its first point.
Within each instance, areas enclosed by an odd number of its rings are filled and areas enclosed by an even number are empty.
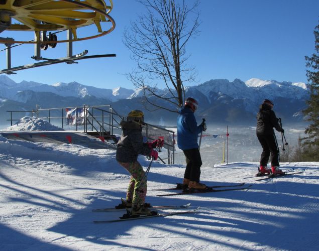
{"type": "Polygon", "coordinates": [[[305,57],[308,87],[310,98],[308,107],[303,110],[310,125],[306,128],[306,137],[303,139],[304,154],[313,157],[313,161],[319,161],[319,25],[314,29],[315,53],[311,57],[305,57]]]}

